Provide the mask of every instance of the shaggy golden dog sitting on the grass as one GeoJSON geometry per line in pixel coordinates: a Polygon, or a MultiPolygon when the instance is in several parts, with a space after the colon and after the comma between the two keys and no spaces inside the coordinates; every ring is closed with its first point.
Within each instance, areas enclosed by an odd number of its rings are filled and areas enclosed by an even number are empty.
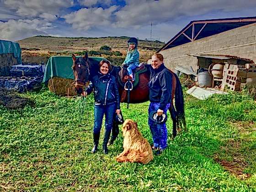
{"type": "Polygon", "coordinates": [[[123,123],[123,152],[116,159],[117,162],[138,162],[147,164],[153,160],[153,151],[147,139],[141,135],[137,123],[126,119],[123,123]]]}

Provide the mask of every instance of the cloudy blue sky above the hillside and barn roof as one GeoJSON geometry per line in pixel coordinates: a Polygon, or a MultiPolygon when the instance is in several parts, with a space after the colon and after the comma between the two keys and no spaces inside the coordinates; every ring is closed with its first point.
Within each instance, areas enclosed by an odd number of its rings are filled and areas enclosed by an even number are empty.
{"type": "Polygon", "coordinates": [[[168,42],[190,21],[256,16],[256,0],[0,0],[0,39],[137,37],[168,42]]]}

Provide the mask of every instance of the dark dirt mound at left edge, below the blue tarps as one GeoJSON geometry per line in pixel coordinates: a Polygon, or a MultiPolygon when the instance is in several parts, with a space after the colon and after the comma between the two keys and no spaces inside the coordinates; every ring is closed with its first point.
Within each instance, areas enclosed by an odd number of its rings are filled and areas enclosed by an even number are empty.
{"type": "Polygon", "coordinates": [[[15,91],[8,91],[4,88],[0,88],[0,104],[8,109],[21,109],[26,105],[35,106],[31,99],[18,96],[15,91]]]}

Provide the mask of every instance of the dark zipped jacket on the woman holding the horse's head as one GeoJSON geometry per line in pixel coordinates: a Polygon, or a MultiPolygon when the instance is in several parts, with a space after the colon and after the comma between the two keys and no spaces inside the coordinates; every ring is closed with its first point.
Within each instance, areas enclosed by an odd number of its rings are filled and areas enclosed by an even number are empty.
{"type": "Polygon", "coordinates": [[[109,73],[106,75],[98,73],[92,77],[85,91],[87,94],[90,94],[93,88],[95,104],[109,105],[116,102],[117,109],[120,109],[120,96],[117,89],[117,81],[113,75],[109,73]]]}

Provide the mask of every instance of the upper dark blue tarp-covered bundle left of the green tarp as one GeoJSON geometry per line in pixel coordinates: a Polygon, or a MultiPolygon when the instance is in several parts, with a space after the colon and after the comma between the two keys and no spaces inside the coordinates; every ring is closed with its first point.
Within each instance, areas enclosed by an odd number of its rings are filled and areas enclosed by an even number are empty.
{"type": "Polygon", "coordinates": [[[12,65],[10,70],[11,76],[21,77],[36,77],[43,76],[43,66],[38,64],[17,64],[12,65]]]}

